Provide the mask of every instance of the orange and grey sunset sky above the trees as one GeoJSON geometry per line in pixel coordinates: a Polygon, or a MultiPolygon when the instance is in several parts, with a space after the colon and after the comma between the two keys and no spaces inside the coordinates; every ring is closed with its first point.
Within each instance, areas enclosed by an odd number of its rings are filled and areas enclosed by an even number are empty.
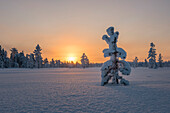
{"type": "Polygon", "coordinates": [[[86,53],[99,63],[108,60],[102,36],[113,26],[127,61],[136,56],[144,61],[151,42],[167,61],[169,6],[169,0],[0,0],[0,45],[8,55],[13,47],[29,54],[39,44],[49,60],[76,57],[80,62],[86,53]]]}

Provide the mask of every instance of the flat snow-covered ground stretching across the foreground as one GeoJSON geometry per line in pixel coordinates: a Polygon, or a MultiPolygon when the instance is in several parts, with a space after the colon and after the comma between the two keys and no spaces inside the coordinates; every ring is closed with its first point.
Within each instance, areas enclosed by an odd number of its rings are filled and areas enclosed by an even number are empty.
{"type": "Polygon", "coordinates": [[[169,113],[170,68],[132,69],[100,86],[100,68],[0,69],[0,113],[169,113]]]}

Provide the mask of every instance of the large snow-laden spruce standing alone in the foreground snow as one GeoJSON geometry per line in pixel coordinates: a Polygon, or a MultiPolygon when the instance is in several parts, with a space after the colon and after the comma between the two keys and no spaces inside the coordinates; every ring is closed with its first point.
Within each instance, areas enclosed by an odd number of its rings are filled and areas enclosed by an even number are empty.
{"type": "Polygon", "coordinates": [[[129,63],[125,61],[127,55],[125,50],[117,47],[119,32],[114,32],[114,27],[109,27],[106,31],[109,36],[103,35],[102,39],[106,41],[109,48],[104,49],[103,53],[104,57],[110,57],[110,60],[102,65],[101,85],[107,84],[111,78],[113,84],[119,84],[120,82],[120,84],[129,85],[129,81],[119,76],[118,73],[120,71],[123,75],[129,75],[131,72],[129,63]]]}

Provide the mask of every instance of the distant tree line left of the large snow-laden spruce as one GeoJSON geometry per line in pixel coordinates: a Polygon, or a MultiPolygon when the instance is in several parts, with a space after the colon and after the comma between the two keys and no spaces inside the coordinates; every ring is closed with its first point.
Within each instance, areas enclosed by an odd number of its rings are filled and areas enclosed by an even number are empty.
{"type": "Polygon", "coordinates": [[[89,63],[89,59],[83,53],[81,57],[81,64],[73,61],[54,60],[49,61],[47,58],[42,58],[42,49],[37,44],[33,53],[24,54],[24,52],[18,52],[16,48],[10,49],[10,57],[7,56],[7,51],[0,45],[0,68],[75,68],[75,67],[100,67],[101,63],[89,63]]]}

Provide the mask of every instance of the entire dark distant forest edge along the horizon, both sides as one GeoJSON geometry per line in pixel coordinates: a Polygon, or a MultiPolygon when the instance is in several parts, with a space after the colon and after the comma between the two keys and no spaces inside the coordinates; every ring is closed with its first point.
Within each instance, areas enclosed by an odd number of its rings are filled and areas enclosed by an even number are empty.
{"type": "MultiPolygon", "coordinates": [[[[131,67],[170,67],[170,61],[163,62],[161,54],[159,54],[158,62],[156,62],[156,49],[155,45],[151,43],[148,59],[144,62],[138,62],[138,58],[135,57],[133,62],[129,62],[131,67]]],[[[10,58],[7,56],[7,51],[0,45],[0,68],[87,68],[87,67],[101,67],[103,63],[90,63],[85,53],[81,56],[81,63],[74,63],[73,61],[60,61],[53,58],[49,61],[47,58],[43,59],[41,56],[41,47],[37,44],[33,53],[24,54],[24,52],[18,52],[16,48],[10,49],[10,58]]]]}

